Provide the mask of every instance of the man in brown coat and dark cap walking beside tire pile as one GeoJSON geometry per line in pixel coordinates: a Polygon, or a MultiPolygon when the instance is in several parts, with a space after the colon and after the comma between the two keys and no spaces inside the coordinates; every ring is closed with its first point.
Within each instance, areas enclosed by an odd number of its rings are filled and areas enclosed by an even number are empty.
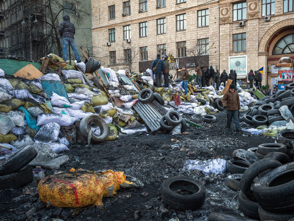
{"type": "Polygon", "coordinates": [[[223,95],[223,107],[227,110],[227,126],[226,129],[230,130],[232,118],[237,131],[242,131],[239,123],[238,113],[240,110],[240,100],[238,92],[235,91],[235,85],[230,84],[229,90],[223,95]]]}

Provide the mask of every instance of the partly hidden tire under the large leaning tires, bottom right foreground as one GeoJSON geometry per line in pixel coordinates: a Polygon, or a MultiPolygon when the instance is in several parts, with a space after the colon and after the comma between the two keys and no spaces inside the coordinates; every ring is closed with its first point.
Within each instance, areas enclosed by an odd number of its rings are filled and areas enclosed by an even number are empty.
{"type": "Polygon", "coordinates": [[[240,191],[238,194],[238,206],[239,209],[246,215],[249,216],[250,218],[253,219],[259,219],[259,214],[258,214],[258,203],[253,202],[250,199],[247,199],[243,192],[240,191]]]}

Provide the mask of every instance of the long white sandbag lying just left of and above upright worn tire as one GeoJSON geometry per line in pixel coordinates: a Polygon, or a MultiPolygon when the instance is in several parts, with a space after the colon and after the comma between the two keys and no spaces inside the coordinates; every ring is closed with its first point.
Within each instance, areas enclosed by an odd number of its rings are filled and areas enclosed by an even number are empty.
{"type": "Polygon", "coordinates": [[[60,126],[71,126],[73,124],[71,118],[68,115],[62,113],[41,113],[38,116],[37,126],[41,126],[51,122],[56,122],[60,126]]]}

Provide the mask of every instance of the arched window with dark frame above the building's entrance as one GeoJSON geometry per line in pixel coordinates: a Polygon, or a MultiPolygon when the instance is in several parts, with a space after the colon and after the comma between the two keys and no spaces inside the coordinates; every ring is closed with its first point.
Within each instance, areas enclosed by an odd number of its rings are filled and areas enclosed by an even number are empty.
{"type": "Polygon", "coordinates": [[[294,54],[294,34],[281,38],[273,49],[273,55],[294,54]]]}

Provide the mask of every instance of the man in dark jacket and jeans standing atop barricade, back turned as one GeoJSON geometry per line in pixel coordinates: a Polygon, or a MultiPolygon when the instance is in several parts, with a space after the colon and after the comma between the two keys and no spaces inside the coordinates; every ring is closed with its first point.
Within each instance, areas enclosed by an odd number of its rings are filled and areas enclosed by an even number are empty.
{"type": "Polygon", "coordinates": [[[77,62],[81,62],[80,56],[78,56],[78,51],[76,50],[76,44],[74,42],[74,34],[76,29],[74,24],[70,22],[69,16],[66,14],[63,17],[63,22],[59,25],[59,34],[62,38],[62,58],[64,61],[67,60],[67,46],[70,45],[71,49],[74,52],[77,62]]]}

